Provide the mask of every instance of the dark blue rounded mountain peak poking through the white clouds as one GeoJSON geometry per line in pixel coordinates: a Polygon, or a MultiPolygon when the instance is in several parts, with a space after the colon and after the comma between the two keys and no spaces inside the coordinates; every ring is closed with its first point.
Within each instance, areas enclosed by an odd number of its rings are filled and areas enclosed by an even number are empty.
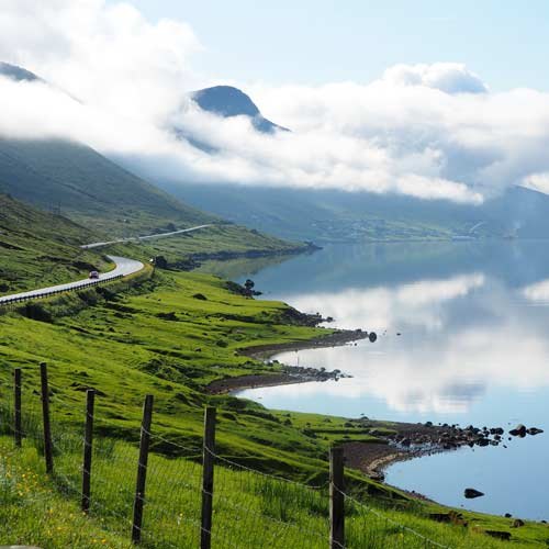
{"type": "Polygon", "coordinates": [[[247,116],[258,132],[266,134],[277,131],[289,132],[287,127],[264,117],[256,103],[238,88],[214,86],[192,92],[191,98],[202,110],[219,116],[247,116]]]}

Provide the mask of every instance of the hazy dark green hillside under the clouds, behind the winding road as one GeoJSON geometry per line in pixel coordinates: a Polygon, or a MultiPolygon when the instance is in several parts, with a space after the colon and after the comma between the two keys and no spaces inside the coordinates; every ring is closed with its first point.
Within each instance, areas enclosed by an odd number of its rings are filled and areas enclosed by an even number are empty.
{"type": "Polygon", "coordinates": [[[66,141],[0,139],[0,191],[43,209],[60,208],[78,223],[114,236],[214,220],[92,148],[66,141]]]}

